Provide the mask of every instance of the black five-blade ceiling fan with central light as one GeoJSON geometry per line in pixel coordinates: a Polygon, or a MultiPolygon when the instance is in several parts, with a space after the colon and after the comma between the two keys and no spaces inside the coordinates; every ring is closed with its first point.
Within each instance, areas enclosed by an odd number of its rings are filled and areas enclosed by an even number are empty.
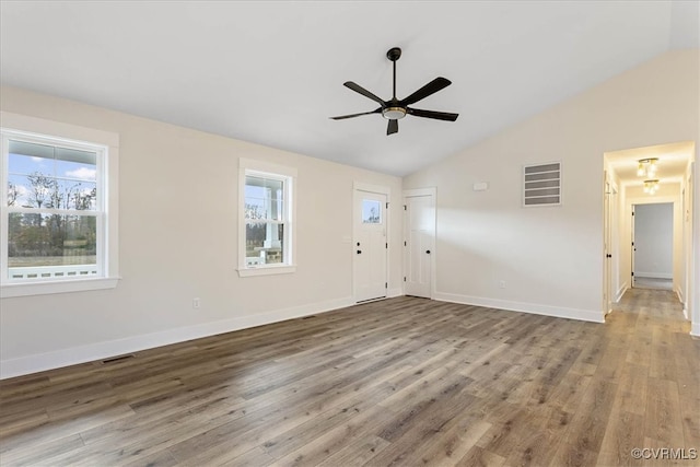
{"type": "Polygon", "coordinates": [[[413,94],[409,95],[406,98],[398,100],[396,98],[396,60],[401,57],[401,49],[398,47],[390,48],[386,52],[386,57],[394,63],[394,96],[389,101],[382,101],[376,95],[372,94],[370,91],[365,90],[361,85],[353,83],[352,81],[347,81],[343,83],[346,87],[351,89],[352,91],[362,94],[365,97],[371,98],[372,101],[380,104],[380,107],[372,112],[363,112],[360,114],[351,114],[351,115],[341,115],[339,117],[330,117],[334,120],[343,120],[346,118],[359,117],[361,115],[370,115],[370,114],[382,114],[384,118],[389,120],[388,126],[386,128],[386,135],[393,135],[398,132],[398,120],[406,117],[406,115],[412,115],[416,117],[423,118],[434,118],[436,120],[447,120],[455,121],[459,114],[450,114],[446,112],[434,112],[434,110],[422,110],[420,108],[412,108],[409,105],[417,103],[418,101],[428,97],[436,93],[438,91],[447,87],[452,84],[446,78],[435,78],[430,83],[425,84],[423,87],[416,91],[413,94]]]}

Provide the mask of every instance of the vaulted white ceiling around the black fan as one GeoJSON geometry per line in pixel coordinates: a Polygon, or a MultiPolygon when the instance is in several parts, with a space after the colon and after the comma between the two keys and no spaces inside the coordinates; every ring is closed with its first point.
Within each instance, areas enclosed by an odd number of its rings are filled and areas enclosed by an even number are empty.
{"type": "MultiPolygon", "coordinates": [[[[697,1],[0,2],[0,79],[314,157],[405,175],[672,48],[697,1]],[[386,136],[377,105],[453,84],[386,136]]],[[[192,154],[196,157],[197,154],[192,154]]]]}

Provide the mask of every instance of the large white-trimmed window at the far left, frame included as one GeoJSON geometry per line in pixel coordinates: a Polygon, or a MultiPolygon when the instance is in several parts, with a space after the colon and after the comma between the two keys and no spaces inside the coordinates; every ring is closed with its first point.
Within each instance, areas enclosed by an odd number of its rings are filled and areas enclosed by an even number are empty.
{"type": "Polygon", "coordinates": [[[104,283],[108,157],[105,144],[2,129],[2,296],[116,284],[104,283]]]}

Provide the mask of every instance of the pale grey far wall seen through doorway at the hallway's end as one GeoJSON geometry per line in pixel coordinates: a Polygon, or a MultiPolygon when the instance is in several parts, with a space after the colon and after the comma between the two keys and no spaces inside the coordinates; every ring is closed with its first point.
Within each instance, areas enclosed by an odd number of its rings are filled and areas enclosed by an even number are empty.
{"type": "Polygon", "coordinates": [[[673,279],[674,203],[634,206],[634,277],[673,279]]]}

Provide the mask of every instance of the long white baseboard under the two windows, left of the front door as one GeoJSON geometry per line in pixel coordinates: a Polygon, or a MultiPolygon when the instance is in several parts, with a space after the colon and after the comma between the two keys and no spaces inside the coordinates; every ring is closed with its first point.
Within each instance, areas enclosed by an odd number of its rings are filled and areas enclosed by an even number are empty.
{"type": "Polygon", "coordinates": [[[255,326],[279,323],[302,316],[330,312],[353,305],[351,297],[331,300],[328,302],[312,303],[294,306],[258,315],[242,316],[222,319],[211,323],[202,323],[195,326],[167,329],[125,339],[79,346],[54,352],[39,353],[0,361],[0,380],[37,373],[45,370],[54,370],[79,363],[103,360],[112,357],[153,349],[171,343],[184,342],[202,337],[215,336],[234,330],[246,329],[255,326]]]}

